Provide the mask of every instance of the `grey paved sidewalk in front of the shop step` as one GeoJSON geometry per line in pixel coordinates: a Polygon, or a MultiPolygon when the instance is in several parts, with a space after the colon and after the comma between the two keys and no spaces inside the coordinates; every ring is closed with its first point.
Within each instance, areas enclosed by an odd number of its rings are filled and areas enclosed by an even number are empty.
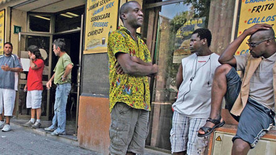
{"type": "Polygon", "coordinates": [[[0,154],[89,154],[100,155],[100,153],[89,151],[80,147],[72,146],[53,138],[41,136],[11,124],[9,132],[0,131],[0,154]]]}

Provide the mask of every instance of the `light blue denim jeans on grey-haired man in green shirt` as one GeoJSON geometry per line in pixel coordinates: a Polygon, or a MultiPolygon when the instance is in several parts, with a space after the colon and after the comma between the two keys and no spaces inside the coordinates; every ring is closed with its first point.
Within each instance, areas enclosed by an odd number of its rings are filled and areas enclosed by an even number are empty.
{"type": "Polygon", "coordinates": [[[65,132],[66,125],[66,104],[69,92],[71,90],[71,84],[65,83],[57,85],[56,87],[56,101],[54,105],[55,115],[52,120],[50,128],[56,129],[57,133],[65,132]]]}

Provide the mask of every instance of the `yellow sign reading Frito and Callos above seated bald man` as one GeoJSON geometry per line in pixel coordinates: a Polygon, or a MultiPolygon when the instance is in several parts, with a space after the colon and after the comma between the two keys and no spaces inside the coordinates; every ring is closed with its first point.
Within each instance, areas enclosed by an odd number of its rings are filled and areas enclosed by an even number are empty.
{"type": "MultiPolygon", "coordinates": [[[[237,37],[241,35],[245,29],[257,23],[274,24],[273,29],[276,31],[275,1],[243,0],[241,1],[240,10],[240,18],[237,25],[237,37]]],[[[249,53],[249,47],[246,44],[248,39],[249,36],[242,42],[241,46],[236,51],[236,55],[249,53]]]]}

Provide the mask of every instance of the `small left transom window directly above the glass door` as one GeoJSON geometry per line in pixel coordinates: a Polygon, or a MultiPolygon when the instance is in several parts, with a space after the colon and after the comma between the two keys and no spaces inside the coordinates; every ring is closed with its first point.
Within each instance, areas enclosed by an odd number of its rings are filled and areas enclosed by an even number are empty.
{"type": "Polygon", "coordinates": [[[29,15],[30,32],[50,32],[50,16],[29,15]]]}

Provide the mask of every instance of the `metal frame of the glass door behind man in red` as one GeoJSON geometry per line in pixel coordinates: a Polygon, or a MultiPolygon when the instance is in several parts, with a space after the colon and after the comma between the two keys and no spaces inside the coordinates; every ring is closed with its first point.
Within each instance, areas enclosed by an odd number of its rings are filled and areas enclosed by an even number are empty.
{"type": "MultiPolygon", "coordinates": [[[[43,34],[43,33],[31,33],[31,32],[19,32],[18,35],[18,55],[21,56],[21,36],[22,35],[33,35],[33,36],[43,36],[43,37],[50,37],[50,44],[49,44],[49,70],[48,70],[48,80],[51,78],[51,67],[52,67],[52,42],[53,42],[53,35],[52,34],[43,34]]],[[[18,82],[18,90],[19,86],[21,84],[27,84],[27,80],[21,80],[19,73],[19,82],[18,82]]],[[[47,81],[42,81],[43,85],[46,85],[47,81]]],[[[16,107],[16,118],[25,118],[29,119],[29,115],[20,115],[19,116],[19,91],[16,92],[16,102],[15,102],[15,107],[16,107]]],[[[46,106],[46,116],[40,116],[41,119],[43,120],[49,120],[50,116],[50,89],[47,90],[47,106],[46,106]]]]}

